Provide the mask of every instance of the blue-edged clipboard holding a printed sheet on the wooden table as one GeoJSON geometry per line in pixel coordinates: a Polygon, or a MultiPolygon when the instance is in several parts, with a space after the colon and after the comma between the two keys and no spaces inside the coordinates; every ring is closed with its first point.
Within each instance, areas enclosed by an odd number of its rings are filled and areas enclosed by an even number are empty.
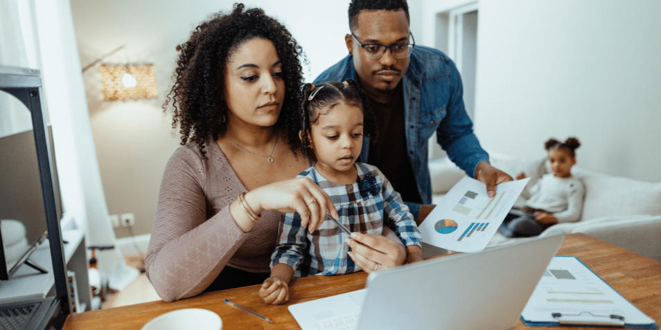
{"type": "Polygon", "coordinates": [[[659,329],[580,259],[556,256],[521,313],[534,327],[659,329]]]}

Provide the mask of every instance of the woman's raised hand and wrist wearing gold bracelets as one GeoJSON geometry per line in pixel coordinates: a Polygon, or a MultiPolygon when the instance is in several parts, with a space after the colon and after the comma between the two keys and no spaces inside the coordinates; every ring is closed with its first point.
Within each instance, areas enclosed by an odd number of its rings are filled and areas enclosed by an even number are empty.
{"type": "Polygon", "coordinates": [[[283,213],[301,214],[301,226],[314,232],[326,219],[338,219],[337,210],[328,194],[310,178],[292,178],[258,187],[247,194],[245,200],[259,214],[263,210],[278,210],[283,213]]]}

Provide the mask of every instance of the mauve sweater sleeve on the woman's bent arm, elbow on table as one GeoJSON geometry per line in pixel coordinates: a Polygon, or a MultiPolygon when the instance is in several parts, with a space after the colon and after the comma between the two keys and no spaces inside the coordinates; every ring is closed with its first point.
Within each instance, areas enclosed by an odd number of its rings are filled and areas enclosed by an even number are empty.
{"type": "Polygon", "coordinates": [[[205,175],[199,156],[179,147],[161,181],[145,268],[166,302],[202,293],[246,237],[232,219],[229,203],[206,219],[205,175]]]}

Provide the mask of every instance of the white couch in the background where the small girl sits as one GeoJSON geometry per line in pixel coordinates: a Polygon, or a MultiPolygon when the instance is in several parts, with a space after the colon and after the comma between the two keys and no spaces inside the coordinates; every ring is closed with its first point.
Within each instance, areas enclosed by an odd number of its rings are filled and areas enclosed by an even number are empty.
{"type": "MultiPolygon", "coordinates": [[[[549,173],[545,159],[490,154],[491,164],[512,177],[525,172],[532,187],[549,173]]],[[[448,159],[430,163],[433,203],[436,204],[466,174],[448,159]]],[[[581,219],[559,223],[542,232],[541,237],[584,232],[661,262],[661,183],[636,181],[610,176],[574,166],[572,174],[585,184],[581,219]]],[[[525,203],[522,197],[515,203],[525,203]]],[[[497,232],[488,246],[507,244],[509,239],[497,232]]]]}

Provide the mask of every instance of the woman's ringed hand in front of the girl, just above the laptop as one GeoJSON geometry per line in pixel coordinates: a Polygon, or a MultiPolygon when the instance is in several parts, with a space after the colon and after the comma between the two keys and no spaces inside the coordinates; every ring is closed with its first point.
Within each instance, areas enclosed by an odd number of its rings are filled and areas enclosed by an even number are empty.
{"type": "Polygon", "coordinates": [[[406,261],[404,246],[382,235],[353,232],[346,244],[351,247],[349,257],[368,274],[400,266],[406,261]]]}

